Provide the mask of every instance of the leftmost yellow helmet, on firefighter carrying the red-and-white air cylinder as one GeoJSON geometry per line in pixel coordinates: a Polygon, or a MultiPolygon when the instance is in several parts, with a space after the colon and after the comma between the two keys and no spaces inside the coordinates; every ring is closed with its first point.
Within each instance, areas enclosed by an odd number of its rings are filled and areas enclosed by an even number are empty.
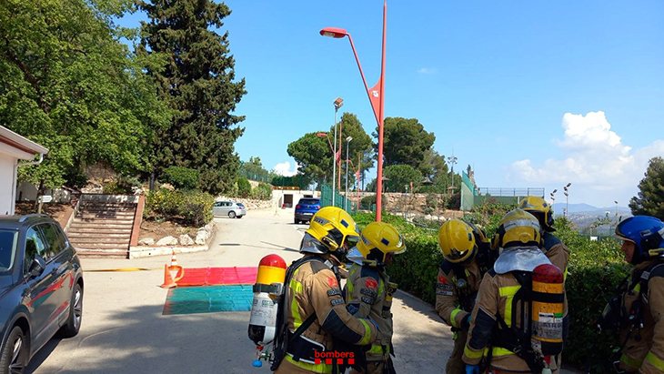
{"type": "Polygon", "coordinates": [[[301,252],[346,252],[359,240],[353,217],[340,207],[324,207],[311,217],[311,224],[302,240],[301,252]],[[346,244],[346,247],[344,246],[346,244]]]}

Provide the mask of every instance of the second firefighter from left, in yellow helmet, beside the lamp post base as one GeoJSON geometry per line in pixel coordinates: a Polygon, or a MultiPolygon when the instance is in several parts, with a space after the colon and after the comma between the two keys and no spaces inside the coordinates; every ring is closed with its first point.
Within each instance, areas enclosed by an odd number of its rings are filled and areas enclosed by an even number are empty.
{"type": "Polygon", "coordinates": [[[357,365],[350,372],[394,373],[390,358],[390,354],[394,355],[390,308],[397,284],[389,281],[385,267],[392,263],[395,255],[406,251],[406,245],[397,229],[383,222],[368,224],[359,238],[357,247],[348,253],[353,266],[346,284],[347,310],[358,318],[376,321],[378,338],[366,353],[366,367],[357,365]]]}

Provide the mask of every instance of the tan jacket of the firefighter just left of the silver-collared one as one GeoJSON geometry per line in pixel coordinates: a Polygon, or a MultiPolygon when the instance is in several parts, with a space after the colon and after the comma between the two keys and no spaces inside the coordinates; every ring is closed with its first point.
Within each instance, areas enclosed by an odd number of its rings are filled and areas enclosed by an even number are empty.
{"type": "Polygon", "coordinates": [[[453,329],[468,329],[468,325],[464,324],[475,306],[481,281],[482,275],[476,261],[471,261],[468,265],[453,265],[444,260],[440,265],[436,282],[436,311],[453,329]],[[464,273],[459,276],[455,269],[464,273]],[[459,279],[465,280],[465,287],[458,288],[459,279]]]}

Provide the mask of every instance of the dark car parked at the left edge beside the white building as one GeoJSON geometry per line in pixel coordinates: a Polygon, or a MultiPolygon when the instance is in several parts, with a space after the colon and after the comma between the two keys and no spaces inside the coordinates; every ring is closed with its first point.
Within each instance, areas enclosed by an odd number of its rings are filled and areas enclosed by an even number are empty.
{"type": "Polygon", "coordinates": [[[82,317],[83,270],[60,225],[0,216],[0,373],[22,373],[55,333],[78,334],[82,317]]]}

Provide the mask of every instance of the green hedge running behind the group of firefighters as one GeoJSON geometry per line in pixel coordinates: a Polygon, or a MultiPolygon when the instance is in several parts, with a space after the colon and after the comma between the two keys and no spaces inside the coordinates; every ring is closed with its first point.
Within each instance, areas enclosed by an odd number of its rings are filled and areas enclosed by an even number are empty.
{"type": "MultiPolygon", "coordinates": [[[[482,212],[474,217],[486,225],[489,235],[495,232],[502,211],[509,207],[492,207],[491,213],[482,212]],[[495,209],[495,210],[494,210],[495,209]]],[[[358,214],[356,222],[361,229],[373,222],[373,214],[358,214]]],[[[403,218],[383,215],[383,221],[396,227],[404,236],[407,251],[395,258],[387,268],[390,279],[398,287],[430,304],[435,304],[435,282],[443,256],[438,250],[435,230],[414,227],[403,218]]],[[[556,220],[556,235],[569,248],[570,258],[566,290],[569,302],[570,328],[563,358],[577,367],[588,366],[590,373],[611,372],[610,362],[617,358],[613,349],[619,348],[616,331],[599,334],[593,320],[599,316],[615,288],[629,273],[629,266],[614,239],[591,241],[578,235],[573,225],[564,218],[556,220]]],[[[397,321],[397,323],[399,323],[397,321]]]]}

